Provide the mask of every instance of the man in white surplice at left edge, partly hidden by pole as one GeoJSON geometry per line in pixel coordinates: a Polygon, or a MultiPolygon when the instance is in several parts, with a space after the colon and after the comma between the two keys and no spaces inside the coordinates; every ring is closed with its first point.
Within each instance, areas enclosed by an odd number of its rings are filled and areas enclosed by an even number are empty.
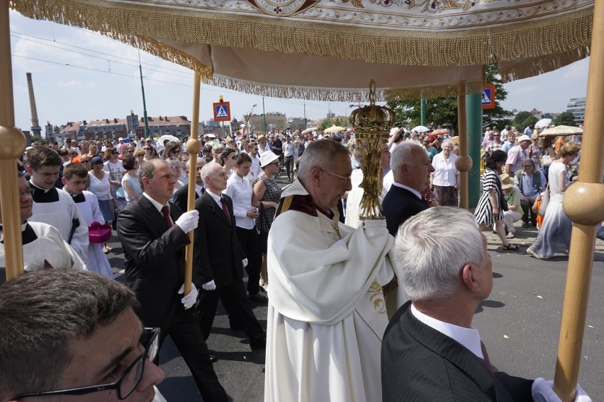
{"type": "MultiPolygon", "coordinates": [[[[45,268],[67,267],[85,270],[86,265],[84,265],[82,258],[79,258],[74,249],[69,247],[69,244],[63,240],[57,229],[43,222],[28,222],[32,214],[32,190],[23,177],[23,173],[18,172],[16,174],[19,176],[18,191],[21,206],[23,270],[33,272],[45,268]]],[[[2,231],[2,217],[0,216],[0,282],[4,282],[4,278],[6,278],[5,264],[4,232],[2,231]]]]}

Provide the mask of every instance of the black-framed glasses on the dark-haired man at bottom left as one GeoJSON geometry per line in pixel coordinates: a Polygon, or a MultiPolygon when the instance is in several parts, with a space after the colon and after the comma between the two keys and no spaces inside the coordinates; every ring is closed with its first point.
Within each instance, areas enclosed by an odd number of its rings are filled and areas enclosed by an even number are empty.
{"type": "Polygon", "coordinates": [[[134,362],[128,366],[123,374],[111,384],[102,384],[95,386],[82,386],[72,389],[57,389],[56,391],[31,392],[28,394],[19,394],[13,399],[31,398],[35,396],[50,396],[50,395],[86,395],[93,392],[107,391],[115,389],[116,395],[120,401],[128,398],[130,394],[140,383],[142,372],[145,370],[145,360],[154,360],[157,356],[157,351],[160,349],[160,328],[145,328],[140,335],[139,343],[145,347],[145,352],[137,357],[134,362]]]}

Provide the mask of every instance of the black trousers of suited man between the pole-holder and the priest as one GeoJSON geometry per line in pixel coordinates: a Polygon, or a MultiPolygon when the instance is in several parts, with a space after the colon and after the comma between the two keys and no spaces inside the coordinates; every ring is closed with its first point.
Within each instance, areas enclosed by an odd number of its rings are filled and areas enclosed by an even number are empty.
{"type": "Polygon", "coordinates": [[[230,285],[217,287],[214,290],[199,289],[195,309],[199,314],[198,325],[203,338],[208,339],[212,331],[218,299],[223,302],[225,309],[230,311],[230,317],[233,317],[233,320],[242,327],[247,338],[250,338],[250,345],[266,342],[267,335],[252,311],[250,299],[245,294],[243,280],[240,277],[233,277],[230,285]]]}

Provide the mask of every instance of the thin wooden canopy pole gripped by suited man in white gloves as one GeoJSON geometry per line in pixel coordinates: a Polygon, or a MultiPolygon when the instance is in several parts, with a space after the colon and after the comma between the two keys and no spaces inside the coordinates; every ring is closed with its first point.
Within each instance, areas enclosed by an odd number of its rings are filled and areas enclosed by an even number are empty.
{"type": "MultiPolygon", "coordinates": [[[[186,142],[186,151],[189,152],[189,193],[187,194],[186,210],[195,209],[195,185],[197,180],[197,154],[201,151],[199,142],[199,92],[201,87],[201,75],[197,71],[193,76],[193,112],[191,116],[191,138],[186,142]]],[[[189,231],[190,243],[184,249],[184,294],[191,292],[191,281],[193,280],[193,241],[194,231],[189,231]]]]}

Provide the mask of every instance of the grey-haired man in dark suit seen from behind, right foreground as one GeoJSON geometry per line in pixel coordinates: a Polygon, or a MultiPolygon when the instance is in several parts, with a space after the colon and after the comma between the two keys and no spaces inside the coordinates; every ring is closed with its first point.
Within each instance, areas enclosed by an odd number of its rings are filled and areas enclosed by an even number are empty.
{"type": "MultiPolygon", "coordinates": [[[[457,207],[420,212],[401,226],[393,254],[411,300],[384,333],[384,402],[560,400],[553,381],[495,372],[472,327],[493,289],[491,255],[472,214],[457,207]]],[[[577,394],[586,396],[580,387],[577,394]]]]}

